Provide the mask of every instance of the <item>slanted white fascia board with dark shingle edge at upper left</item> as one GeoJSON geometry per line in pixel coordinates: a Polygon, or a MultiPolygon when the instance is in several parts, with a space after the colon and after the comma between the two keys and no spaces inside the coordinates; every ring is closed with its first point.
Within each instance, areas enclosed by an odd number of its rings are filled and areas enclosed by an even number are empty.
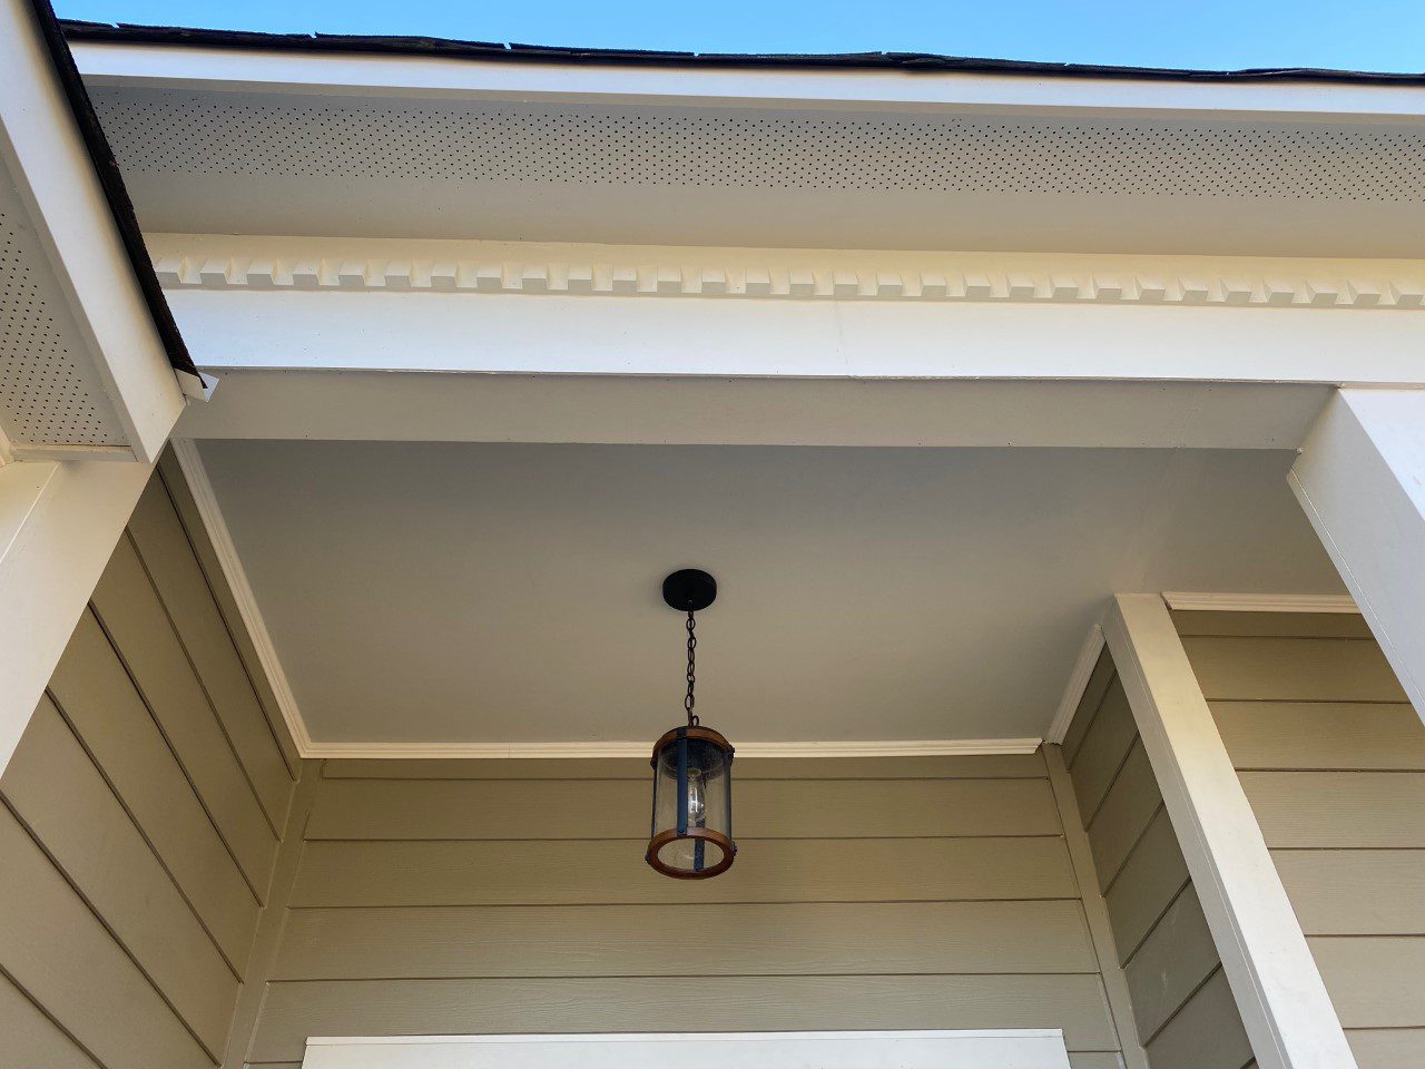
{"type": "Polygon", "coordinates": [[[182,393],[26,0],[0,3],[0,161],[66,289],[134,456],[157,460],[182,393]]]}

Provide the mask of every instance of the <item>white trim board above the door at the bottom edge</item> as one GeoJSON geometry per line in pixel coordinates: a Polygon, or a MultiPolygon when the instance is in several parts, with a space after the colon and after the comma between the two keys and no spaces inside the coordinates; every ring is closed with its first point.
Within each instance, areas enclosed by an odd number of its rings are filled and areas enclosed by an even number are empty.
{"type": "Polygon", "coordinates": [[[1069,1069],[1057,1028],[663,1035],[314,1036],[304,1069],[1069,1069]],[[675,1045],[675,1046],[674,1046],[675,1045]]]}

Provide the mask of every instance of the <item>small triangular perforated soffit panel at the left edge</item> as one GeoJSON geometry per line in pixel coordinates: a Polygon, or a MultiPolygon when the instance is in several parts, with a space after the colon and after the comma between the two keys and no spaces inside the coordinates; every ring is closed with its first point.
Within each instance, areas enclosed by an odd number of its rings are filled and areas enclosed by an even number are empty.
{"type": "Polygon", "coordinates": [[[13,449],[128,445],[7,168],[0,168],[0,429],[13,449]]]}

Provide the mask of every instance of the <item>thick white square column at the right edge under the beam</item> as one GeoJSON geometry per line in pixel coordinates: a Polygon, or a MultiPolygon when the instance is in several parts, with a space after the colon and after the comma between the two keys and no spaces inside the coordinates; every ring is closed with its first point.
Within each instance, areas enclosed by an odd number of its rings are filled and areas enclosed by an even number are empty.
{"type": "Polygon", "coordinates": [[[1340,391],[1290,482],[1425,718],[1425,391],[1340,391]]]}

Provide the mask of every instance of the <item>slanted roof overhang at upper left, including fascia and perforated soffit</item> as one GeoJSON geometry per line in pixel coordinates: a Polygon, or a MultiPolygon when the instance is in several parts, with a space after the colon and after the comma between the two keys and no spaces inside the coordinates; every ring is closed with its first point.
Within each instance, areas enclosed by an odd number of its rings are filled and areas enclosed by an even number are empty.
{"type": "Polygon", "coordinates": [[[0,4],[0,455],[152,462],[192,365],[48,17],[0,4]]]}

